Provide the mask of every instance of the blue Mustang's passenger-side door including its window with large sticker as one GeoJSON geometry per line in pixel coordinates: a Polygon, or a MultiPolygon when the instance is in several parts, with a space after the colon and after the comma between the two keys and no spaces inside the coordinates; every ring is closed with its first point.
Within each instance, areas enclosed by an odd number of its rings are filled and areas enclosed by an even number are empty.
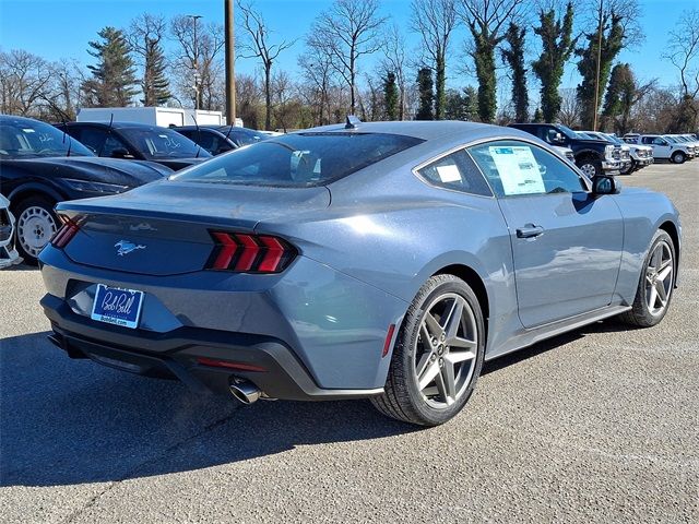
{"type": "Polygon", "coordinates": [[[494,141],[469,152],[510,230],[522,324],[534,327],[609,305],[624,241],[614,199],[592,195],[581,175],[533,143],[494,141]]]}

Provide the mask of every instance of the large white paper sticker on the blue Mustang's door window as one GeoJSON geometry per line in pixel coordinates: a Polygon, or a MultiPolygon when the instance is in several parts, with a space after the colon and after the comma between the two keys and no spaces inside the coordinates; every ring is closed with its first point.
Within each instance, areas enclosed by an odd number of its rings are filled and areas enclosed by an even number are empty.
{"type": "Polygon", "coordinates": [[[490,146],[490,156],[500,175],[502,191],[510,194],[545,193],[544,179],[528,146],[490,146]]]}

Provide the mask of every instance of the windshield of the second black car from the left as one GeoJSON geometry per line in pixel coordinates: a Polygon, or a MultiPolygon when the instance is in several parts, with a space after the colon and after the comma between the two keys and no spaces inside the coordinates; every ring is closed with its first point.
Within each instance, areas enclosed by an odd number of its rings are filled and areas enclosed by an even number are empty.
{"type": "Polygon", "coordinates": [[[206,150],[171,129],[122,128],[119,131],[149,160],[211,156],[206,150]]]}

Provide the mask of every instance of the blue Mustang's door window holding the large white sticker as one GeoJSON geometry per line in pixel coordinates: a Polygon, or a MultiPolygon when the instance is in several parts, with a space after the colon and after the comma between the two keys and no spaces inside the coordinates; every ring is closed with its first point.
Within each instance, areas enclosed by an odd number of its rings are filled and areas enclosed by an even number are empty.
{"type": "Polygon", "coordinates": [[[500,198],[588,190],[573,169],[532,144],[498,141],[470,147],[469,152],[500,198]]]}

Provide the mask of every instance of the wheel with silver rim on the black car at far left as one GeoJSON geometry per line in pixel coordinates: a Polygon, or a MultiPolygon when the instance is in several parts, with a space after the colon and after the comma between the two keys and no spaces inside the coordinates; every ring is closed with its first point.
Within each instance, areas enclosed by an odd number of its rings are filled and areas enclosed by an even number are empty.
{"type": "Polygon", "coordinates": [[[43,196],[31,196],[21,201],[13,211],[17,221],[17,249],[28,264],[37,264],[39,252],[58,230],[54,205],[43,196]]]}

